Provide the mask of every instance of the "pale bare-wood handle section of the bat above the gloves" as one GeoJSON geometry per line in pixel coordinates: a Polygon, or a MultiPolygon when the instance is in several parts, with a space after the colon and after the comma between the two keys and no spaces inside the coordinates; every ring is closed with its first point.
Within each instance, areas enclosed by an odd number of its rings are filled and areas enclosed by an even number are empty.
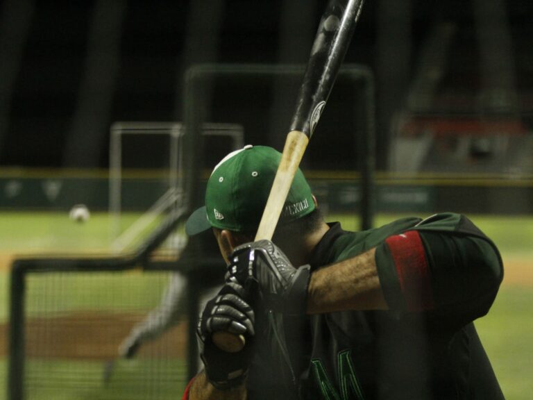
{"type": "Polygon", "coordinates": [[[307,143],[309,143],[309,138],[303,132],[291,131],[287,135],[276,178],[274,178],[272,183],[269,199],[264,207],[263,216],[255,234],[256,241],[272,239],[280,219],[283,204],[285,204],[287,194],[289,194],[291,189],[292,181],[296,171],[298,171],[307,143]]]}

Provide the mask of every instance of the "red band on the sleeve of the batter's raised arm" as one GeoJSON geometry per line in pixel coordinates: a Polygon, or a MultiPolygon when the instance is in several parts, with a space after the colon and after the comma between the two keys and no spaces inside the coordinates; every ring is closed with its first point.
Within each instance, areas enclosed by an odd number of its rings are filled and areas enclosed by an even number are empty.
{"type": "Polygon", "coordinates": [[[433,308],[428,261],[417,231],[390,236],[385,240],[391,251],[400,288],[407,303],[407,310],[421,311],[433,308]]]}

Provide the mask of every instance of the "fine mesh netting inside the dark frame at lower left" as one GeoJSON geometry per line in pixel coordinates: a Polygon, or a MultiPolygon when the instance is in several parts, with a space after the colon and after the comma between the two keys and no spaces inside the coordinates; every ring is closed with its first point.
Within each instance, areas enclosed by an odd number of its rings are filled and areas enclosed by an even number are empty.
{"type": "Polygon", "coordinates": [[[26,399],[176,399],[187,376],[187,322],[135,357],[131,328],[158,306],[170,272],[31,273],[26,279],[26,399]]]}

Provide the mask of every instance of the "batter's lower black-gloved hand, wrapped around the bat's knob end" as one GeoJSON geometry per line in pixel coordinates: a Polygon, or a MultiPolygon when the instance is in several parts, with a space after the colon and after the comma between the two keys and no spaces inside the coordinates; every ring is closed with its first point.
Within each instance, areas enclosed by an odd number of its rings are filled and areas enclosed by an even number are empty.
{"type": "Polygon", "coordinates": [[[196,329],[205,374],[214,387],[222,390],[244,382],[253,355],[255,319],[244,294],[242,285],[226,283],[205,305],[196,329]],[[244,335],[246,346],[236,353],[222,351],[212,341],[213,333],[219,331],[244,335]]]}

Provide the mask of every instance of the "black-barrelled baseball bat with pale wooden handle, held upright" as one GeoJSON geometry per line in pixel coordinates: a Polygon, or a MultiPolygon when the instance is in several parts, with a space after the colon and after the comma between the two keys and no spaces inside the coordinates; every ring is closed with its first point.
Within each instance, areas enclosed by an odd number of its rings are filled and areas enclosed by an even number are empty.
{"type": "MultiPolygon", "coordinates": [[[[285,141],[280,165],[264,208],[255,240],[271,240],[296,171],[319,122],[335,78],[344,60],[363,0],[330,0],[319,24],[296,110],[285,141]]],[[[236,352],[244,347],[243,335],[217,332],[212,340],[219,349],[236,352]]]]}

